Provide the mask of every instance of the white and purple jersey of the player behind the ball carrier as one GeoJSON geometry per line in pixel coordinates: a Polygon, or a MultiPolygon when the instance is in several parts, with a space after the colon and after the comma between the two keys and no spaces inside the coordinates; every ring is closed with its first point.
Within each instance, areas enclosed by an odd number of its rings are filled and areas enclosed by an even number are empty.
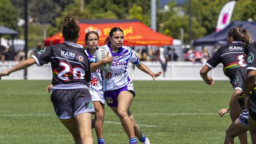
{"type": "MultiPolygon", "coordinates": [[[[85,53],[88,56],[88,59],[93,57],[93,55],[90,54],[88,48],[85,50],[85,53]]],[[[103,98],[103,90],[102,90],[102,77],[101,77],[101,70],[98,68],[95,72],[91,73],[91,85],[89,87],[90,94],[92,96],[92,100],[94,101],[100,101],[103,104],[105,103],[105,100],[103,98]]]]}

